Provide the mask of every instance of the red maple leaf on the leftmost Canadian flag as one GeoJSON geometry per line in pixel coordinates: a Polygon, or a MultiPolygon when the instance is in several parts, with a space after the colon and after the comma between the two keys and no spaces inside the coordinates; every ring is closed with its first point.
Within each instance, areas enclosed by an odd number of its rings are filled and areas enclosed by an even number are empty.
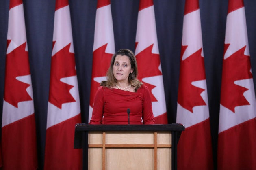
{"type": "MultiPolygon", "coordinates": [[[[7,40],[7,47],[11,40],[7,40]]],[[[18,76],[30,75],[26,42],[6,55],[4,100],[18,108],[18,102],[30,101],[26,91],[30,85],[17,80],[18,76]]]]}

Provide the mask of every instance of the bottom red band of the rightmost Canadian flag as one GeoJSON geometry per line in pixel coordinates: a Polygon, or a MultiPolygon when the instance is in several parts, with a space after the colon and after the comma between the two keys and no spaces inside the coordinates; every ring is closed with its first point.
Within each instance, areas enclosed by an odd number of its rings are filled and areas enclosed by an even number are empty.
{"type": "Polygon", "coordinates": [[[218,137],[218,170],[253,170],[256,167],[255,134],[256,118],[221,132],[218,137]]]}

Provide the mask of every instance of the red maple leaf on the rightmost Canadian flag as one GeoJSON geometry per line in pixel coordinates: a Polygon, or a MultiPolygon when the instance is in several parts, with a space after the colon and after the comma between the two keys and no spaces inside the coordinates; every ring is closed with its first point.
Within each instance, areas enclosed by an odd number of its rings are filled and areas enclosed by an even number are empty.
{"type": "MultiPolygon", "coordinates": [[[[225,44],[225,53],[229,45],[225,44]]],[[[239,49],[227,59],[223,59],[221,105],[233,113],[236,106],[249,105],[249,102],[243,96],[243,93],[248,89],[234,84],[236,80],[252,78],[250,56],[244,55],[245,47],[239,49]]]]}

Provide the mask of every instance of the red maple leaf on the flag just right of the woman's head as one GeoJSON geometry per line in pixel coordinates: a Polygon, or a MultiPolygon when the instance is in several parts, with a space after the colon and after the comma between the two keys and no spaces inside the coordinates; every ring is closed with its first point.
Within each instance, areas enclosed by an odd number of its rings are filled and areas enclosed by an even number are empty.
{"type": "MultiPolygon", "coordinates": [[[[143,51],[136,55],[137,65],[138,65],[138,79],[142,81],[145,77],[153,77],[162,75],[161,71],[158,69],[160,65],[160,55],[153,54],[152,48],[153,45],[148,46],[143,51]]],[[[137,45],[136,45],[137,46],[137,45]]],[[[155,96],[152,94],[152,89],[154,89],[154,85],[148,84],[142,81],[150,90],[151,101],[156,102],[155,96]]]]}

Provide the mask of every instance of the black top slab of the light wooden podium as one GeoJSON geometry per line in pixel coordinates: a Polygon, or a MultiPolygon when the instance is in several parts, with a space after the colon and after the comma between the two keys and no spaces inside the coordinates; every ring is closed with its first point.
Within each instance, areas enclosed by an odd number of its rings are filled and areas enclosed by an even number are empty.
{"type": "Polygon", "coordinates": [[[77,123],[75,131],[183,131],[182,124],[154,124],[154,125],[89,125],[77,123]]]}

